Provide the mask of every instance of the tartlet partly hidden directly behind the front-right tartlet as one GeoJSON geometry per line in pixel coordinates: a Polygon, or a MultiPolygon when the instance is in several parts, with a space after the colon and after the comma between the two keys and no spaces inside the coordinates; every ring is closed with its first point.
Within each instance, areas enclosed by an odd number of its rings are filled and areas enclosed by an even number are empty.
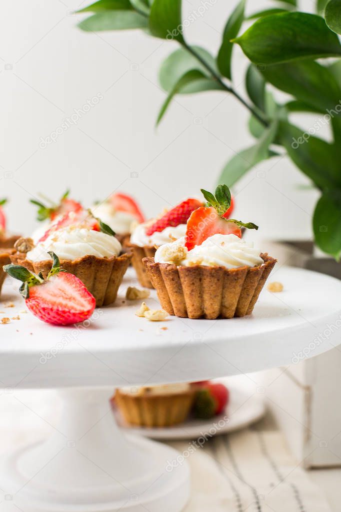
{"type": "Polygon", "coordinates": [[[143,258],[154,257],[157,247],[184,237],[187,219],[201,204],[197,199],[187,199],[166,211],[161,217],[151,219],[134,228],[130,240],[126,240],[124,245],[132,253],[132,265],[141,286],[153,288],[142,262],[143,258]]]}

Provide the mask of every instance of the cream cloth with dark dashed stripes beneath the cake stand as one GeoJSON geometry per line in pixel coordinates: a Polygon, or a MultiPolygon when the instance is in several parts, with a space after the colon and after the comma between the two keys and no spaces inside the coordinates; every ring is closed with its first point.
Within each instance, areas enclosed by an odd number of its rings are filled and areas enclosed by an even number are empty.
{"type": "Polygon", "coordinates": [[[330,512],[280,432],[245,429],[196,450],[186,441],[169,444],[185,456],[193,452],[187,457],[192,497],[184,512],[330,512]]]}

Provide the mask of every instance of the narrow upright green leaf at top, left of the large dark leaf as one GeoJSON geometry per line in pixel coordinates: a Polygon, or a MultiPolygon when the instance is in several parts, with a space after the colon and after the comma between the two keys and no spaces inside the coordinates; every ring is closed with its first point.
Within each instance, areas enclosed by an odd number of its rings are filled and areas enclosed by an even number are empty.
{"type": "Polygon", "coordinates": [[[217,65],[220,73],[231,80],[231,57],[233,43],[231,39],[238,35],[244,21],[245,0],[241,0],[232,12],[225,25],[222,42],[217,57],[217,65]]]}

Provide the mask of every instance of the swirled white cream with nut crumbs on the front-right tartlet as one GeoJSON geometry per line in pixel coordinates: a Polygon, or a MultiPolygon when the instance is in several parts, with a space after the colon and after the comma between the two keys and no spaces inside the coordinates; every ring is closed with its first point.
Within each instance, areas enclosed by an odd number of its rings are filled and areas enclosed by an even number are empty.
{"type": "Polygon", "coordinates": [[[241,240],[235,234],[214,234],[192,250],[185,247],[185,238],[159,247],[156,263],[174,265],[221,266],[225,268],[255,267],[264,263],[253,243],[241,240]]]}

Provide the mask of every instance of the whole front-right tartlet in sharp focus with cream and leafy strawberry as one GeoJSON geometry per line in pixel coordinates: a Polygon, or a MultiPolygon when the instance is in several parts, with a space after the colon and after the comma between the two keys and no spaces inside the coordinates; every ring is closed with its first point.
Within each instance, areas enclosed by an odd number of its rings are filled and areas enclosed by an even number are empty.
{"type": "Polygon", "coordinates": [[[203,190],[207,206],[193,212],[186,236],[144,258],[161,306],[188,318],[233,318],[252,313],[276,260],[240,239],[240,227],[253,223],[222,217],[230,204],[226,185],[216,197],[203,190]]]}

